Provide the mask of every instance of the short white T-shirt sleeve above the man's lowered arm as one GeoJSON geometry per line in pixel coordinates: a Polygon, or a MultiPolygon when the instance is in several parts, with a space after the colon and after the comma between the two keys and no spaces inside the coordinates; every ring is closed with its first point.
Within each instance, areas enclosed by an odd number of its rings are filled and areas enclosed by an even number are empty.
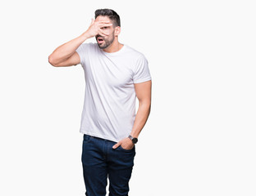
{"type": "Polygon", "coordinates": [[[151,80],[151,75],[149,72],[148,60],[142,55],[135,65],[135,73],[133,76],[134,83],[146,82],[151,80]]]}

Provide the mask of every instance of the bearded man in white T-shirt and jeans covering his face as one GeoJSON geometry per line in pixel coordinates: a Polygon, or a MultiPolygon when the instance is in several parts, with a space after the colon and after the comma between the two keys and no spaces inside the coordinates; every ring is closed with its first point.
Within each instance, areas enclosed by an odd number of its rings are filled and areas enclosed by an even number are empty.
{"type": "Polygon", "coordinates": [[[89,29],[57,47],[48,58],[56,67],[81,64],[85,104],[80,132],[87,196],[125,196],[135,157],[135,143],[150,113],[151,77],[144,55],[118,42],[120,17],[110,9],[95,11],[89,29]],[[83,43],[95,37],[97,43],[83,43]],[[139,109],[135,115],[135,98],[139,109]]]}

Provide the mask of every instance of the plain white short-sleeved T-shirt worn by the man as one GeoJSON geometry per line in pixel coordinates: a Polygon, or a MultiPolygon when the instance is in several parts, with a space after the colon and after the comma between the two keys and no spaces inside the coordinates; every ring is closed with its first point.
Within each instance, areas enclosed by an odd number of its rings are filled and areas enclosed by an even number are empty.
{"type": "Polygon", "coordinates": [[[85,70],[80,132],[116,142],[129,136],[135,121],[134,83],[151,80],[148,61],[126,45],[107,53],[97,43],[83,43],[76,51],[85,70]]]}

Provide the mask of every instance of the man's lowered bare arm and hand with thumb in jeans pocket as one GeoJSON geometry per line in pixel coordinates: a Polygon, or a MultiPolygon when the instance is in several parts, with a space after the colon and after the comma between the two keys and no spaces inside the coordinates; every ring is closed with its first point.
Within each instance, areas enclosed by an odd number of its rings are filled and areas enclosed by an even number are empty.
{"type": "MultiPolygon", "coordinates": [[[[140,131],[143,129],[147,119],[149,118],[151,107],[151,80],[147,82],[135,83],[135,92],[139,100],[139,109],[135,117],[135,122],[130,132],[130,136],[138,138],[140,131]]],[[[123,149],[132,149],[134,144],[130,138],[125,138],[119,141],[116,145],[113,145],[113,149],[116,149],[119,145],[123,149]]]]}

